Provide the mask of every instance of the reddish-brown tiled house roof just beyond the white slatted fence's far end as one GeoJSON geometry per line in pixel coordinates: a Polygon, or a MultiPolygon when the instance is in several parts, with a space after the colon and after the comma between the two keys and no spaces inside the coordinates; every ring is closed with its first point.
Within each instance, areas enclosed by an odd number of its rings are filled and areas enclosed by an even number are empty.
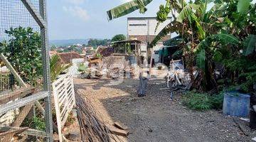
{"type": "Polygon", "coordinates": [[[72,53],[58,53],[58,55],[60,56],[60,59],[62,60],[62,62],[64,62],[65,64],[70,64],[71,61],[73,59],[80,59],[80,58],[84,58],[82,55],[79,55],[78,53],[72,52],[72,53]]]}

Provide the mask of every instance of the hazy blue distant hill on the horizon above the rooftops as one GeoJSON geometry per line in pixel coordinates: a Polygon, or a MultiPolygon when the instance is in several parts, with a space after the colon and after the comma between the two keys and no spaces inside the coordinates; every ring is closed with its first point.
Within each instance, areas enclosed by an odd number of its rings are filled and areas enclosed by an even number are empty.
{"type": "Polygon", "coordinates": [[[87,44],[89,39],[50,40],[50,45],[68,46],[73,44],[87,44]]]}

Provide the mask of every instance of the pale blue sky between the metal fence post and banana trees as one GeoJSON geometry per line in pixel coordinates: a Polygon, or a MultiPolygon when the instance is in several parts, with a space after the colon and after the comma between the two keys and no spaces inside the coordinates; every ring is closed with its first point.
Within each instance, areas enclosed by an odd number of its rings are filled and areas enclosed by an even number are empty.
{"type": "Polygon", "coordinates": [[[114,21],[107,21],[106,11],[129,0],[58,0],[48,1],[50,40],[78,38],[112,38],[127,34],[127,17],[156,16],[165,0],[154,0],[145,14],[135,11],[114,21]]]}

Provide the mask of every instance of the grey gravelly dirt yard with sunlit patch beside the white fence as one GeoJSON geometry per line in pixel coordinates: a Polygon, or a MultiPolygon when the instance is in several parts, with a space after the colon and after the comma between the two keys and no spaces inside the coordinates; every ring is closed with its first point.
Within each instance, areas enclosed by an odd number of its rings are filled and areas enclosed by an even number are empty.
{"type": "Polygon", "coordinates": [[[149,80],[146,97],[137,97],[139,80],[75,79],[75,87],[100,111],[105,124],[114,121],[129,127],[124,141],[131,142],[215,142],[251,141],[255,131],[240,121],[241,131],[232,117],[221,111],[191,111],[181,104],[181,97],[170,99],[164,79],[149,80]],[[246,136],[246,135],[248,136],[246,136]]]}

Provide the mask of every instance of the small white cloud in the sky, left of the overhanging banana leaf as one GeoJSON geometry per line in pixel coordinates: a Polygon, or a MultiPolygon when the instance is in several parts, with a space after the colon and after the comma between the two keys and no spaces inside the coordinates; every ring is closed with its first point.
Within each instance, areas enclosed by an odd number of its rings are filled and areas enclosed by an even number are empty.
{"type": "Polygon", "coordinates": [[[63,10],[75,17],[80,18],[82,21],[87,21],[90,18],[87,11],[82,9],[80,6],[63,6],[63,10]]]}

